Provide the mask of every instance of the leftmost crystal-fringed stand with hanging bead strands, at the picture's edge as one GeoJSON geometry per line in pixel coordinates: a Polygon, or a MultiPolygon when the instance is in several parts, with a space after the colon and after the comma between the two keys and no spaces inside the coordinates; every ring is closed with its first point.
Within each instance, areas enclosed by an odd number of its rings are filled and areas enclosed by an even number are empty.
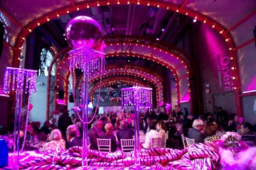
{"type": "Polygon", "coordinates": [[[10,94],[13,90],[16,93],[15,99],[15,117],[14,117],[14,133],[13,133],[13,169],[19,169],[19,143],[20,143],[20,115],[22,113],[22,95],[23,92],[28,93],[28,111],[26,117],[26,125],[24,131],[24,141],[22,144],[22,149],[24,148],[24,143],[26,140],[26,131],[28,127],[28,117],[29,111],[31,110],[30,97],[32,92],[36,92],[36,70],[22,69],[15,67],[6,67],[4,73],[4,94],[10,94]],[[25,85],[25,86],[24,86],[25,85]]]}

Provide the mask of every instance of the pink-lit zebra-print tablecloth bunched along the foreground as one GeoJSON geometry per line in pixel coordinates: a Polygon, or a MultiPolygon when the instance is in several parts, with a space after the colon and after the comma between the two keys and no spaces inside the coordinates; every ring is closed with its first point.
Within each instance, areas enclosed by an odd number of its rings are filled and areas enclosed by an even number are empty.
{"type": "MultiPolygon", "coordinates": [[[[60,154],[45,153],[30,161],[23,159],[19,169],[83,169],[81,153],[82,149],[78,146],[60,154]]],[[[123,154],[120,150],[108,154],[88,150],[88,169],[131,169],[134,166],[132,154],[123,154]]],[[[195,144],[184,150],[154,148],[140,151],[141,169],[209,170],[216,169],[219,161],[219,149],[213,143],[195,144]]]]}

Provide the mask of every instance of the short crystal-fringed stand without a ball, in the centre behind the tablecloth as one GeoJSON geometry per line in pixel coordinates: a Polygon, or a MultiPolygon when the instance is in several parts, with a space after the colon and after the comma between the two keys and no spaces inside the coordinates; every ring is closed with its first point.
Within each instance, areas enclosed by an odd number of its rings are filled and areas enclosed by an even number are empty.
{"type": "Polygon", "coordinates": [[[124,106],[134,106],[134,169],[140,169],[140,109],[152,109],[152,88],[128,87],[122,88],[122,110],[124,106]]]}

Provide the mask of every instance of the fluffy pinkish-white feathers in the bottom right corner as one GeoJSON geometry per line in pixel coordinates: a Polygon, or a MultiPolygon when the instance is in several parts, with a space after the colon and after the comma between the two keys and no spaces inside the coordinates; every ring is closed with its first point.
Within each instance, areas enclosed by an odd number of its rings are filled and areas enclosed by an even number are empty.
{"type": "Polygon", "coordinates": [[[254,170],[256,169],[256,147],[250,147],[247,150],[237,153],[238,159],[234,158],[230,150],[220,147],[220,167],[218,169],[232,170],[254,170]]]}

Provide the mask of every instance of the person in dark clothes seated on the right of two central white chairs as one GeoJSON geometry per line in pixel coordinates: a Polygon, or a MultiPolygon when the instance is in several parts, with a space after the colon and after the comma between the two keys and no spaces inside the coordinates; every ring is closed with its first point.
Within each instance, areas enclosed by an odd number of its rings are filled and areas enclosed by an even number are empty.
{"type": "Polygon", "coordinates": [[[116,137],[118,141],[120,142],[121,139],[132,139],[132,135],[134,135],[134,131],[132,131],[132,129],[130,128],[127,128],[127,122],[125,122],[125,120],[122,120],[120,122],[120,126],[122,129],[116,132],[116,137]]]}

